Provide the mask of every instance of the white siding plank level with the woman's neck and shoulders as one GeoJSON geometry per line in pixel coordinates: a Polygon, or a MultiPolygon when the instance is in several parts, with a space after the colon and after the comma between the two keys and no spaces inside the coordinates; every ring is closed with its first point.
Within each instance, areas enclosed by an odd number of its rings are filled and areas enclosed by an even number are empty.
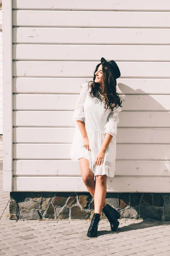
{"type": "MultiPolygon", "coordinates": [[[[81,84],[91,81],[87,78],[14,77],[14,93],[80,93],[81,84]]],[[[170,79],[126,79],[118,78],[118,93],[170,94],[170,79]],[[161,86],[160,86],[161,84],[161,86]]]]}

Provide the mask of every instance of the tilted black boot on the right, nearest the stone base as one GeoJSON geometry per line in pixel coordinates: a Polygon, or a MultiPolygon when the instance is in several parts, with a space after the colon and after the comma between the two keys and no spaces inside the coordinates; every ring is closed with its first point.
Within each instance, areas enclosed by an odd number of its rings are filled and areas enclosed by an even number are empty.
{"type": "Polygon", "coordinates": [[[103,207],[102,212],[104,212],[105,216],[108,218],[108,221],[111,224],[111,230],[115,231],[119,227],[119,221],[117,220],[121,216],[119,212],[109,204],[106,204],[106,206],[103,207]]]}

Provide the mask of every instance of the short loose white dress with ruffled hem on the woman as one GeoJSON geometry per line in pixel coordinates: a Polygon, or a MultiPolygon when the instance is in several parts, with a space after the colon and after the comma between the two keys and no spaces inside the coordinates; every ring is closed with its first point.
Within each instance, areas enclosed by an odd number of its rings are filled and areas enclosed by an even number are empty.
{"type": "Polygon", "coordinates": [[[91,88],[88,88],[88,82],[81,84],[81,87],[82,90],[79,94],[73,120],[85,122],[91,151],[84,147],[82,135],[76,123],[70,158],[71,160],[79,160],[81,157],[85,157],[89,161],[89,167],[94,176],[107,175],[108,177],[114,177],[117,123],[119,122],[119,111],[122,111],[122,109],[118,107],[114,108],[113,111],[111,109],[106,110],[104,102],[102,102],[103,96],[99,92],[99,98],[91,97],[89,95],[91,88]],[[96,155],[102,146],[106,133],[113,137],[105,152],[103,164],[97,166],[95,164],[96,155]]]}

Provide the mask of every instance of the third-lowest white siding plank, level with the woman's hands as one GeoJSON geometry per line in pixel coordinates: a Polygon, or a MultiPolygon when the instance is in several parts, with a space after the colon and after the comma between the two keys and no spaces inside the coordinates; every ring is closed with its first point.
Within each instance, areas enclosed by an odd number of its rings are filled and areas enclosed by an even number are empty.
{"type": "MultiPolygon", "coordinates": [[[[71,144],[19,143],[13,146],[14,159],[70,159],[71,144]]],[[[170,160],[170,144],[118,144],[116,159],[170,160]]]]}

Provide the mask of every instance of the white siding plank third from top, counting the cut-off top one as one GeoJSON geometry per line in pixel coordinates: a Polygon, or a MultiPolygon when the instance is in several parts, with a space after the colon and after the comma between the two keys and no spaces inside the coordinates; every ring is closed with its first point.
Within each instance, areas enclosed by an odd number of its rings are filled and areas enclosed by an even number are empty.
{"type": "Polygon", "coordinates": [[[170,29],[14,27],[13,43],[170,44],[170,29]]]}

